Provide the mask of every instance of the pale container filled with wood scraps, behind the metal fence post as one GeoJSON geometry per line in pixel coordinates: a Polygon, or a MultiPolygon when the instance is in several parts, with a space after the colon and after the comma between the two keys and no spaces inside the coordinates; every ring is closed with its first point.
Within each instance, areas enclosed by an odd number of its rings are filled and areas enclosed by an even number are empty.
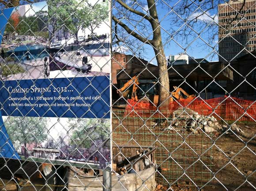
{"type": "MultiPolygon", "coordinates": [[[[113,150],[114,160],[113,173],[111,177],[112,191],[154,191],[155,181],[155,148],[142,148],[119,146],[113,150]],[[117,148],[122,150],[133,150],[134,156],[118,157],[117,148]],[[140,152],[139,152],[140,151],[140,152]]],[[[90,169],[89,169],[90,170],[90,169]]],[[[88,170],[87,170],[88,171],[88,170]]],[[[102,191],[102,173],[88,176],[88,173],[75,167],[69,167],[64,180],[68,180],[69,191],[102,191]]]]}

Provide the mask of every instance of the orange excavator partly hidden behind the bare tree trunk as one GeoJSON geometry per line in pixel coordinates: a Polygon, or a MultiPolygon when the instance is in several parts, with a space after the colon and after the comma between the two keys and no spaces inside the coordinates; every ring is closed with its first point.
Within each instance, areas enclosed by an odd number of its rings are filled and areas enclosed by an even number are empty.
{"type": "MultiPolygon", "coordinates": [[[[195,95],[188,94],[181,87],[173,86],[174,91],[171,92],[170,102],[173,97],[177,100],[194,99],[195,95]]],[[[157,82],[139,82],[139,75],[135,75],[128,82],[124,84],[117,94],[125,99],[132,99],[134,101],[153,102],[154,105],[158,104],[159,88],[157,82]],[[146,94],[146,95],[145,95],[146,94]]]]}

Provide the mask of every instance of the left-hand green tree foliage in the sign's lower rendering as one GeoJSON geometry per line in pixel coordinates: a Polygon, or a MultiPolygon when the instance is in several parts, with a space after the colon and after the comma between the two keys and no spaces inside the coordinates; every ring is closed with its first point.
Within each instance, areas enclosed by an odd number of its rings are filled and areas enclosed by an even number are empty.
{"type": "Polygon", "coordinates": [[[41,143],[47,138],[45,118],[15,116],[9,117],[4,124],[11,141],[19,141],[25,147],[27,143],[41,143]]]}

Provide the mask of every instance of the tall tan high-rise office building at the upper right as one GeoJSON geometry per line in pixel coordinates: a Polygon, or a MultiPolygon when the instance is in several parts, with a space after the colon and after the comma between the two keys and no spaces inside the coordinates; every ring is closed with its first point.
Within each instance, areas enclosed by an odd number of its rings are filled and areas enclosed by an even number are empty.
{"type": "Polygon", "coordinates": [[[220,61],[256,50],[256,0],[218,4],[218,24],[220,61]]]}

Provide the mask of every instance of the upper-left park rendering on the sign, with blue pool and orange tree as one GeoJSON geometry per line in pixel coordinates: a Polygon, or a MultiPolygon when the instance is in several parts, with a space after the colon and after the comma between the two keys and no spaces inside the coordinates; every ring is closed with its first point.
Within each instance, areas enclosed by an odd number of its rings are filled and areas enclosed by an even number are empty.
{"type": "Polygon", "coordinates": [[[46,2],[13,9],[0,45],[3,79],[38,79],[49,73],[47,23],[46,2]]]}

